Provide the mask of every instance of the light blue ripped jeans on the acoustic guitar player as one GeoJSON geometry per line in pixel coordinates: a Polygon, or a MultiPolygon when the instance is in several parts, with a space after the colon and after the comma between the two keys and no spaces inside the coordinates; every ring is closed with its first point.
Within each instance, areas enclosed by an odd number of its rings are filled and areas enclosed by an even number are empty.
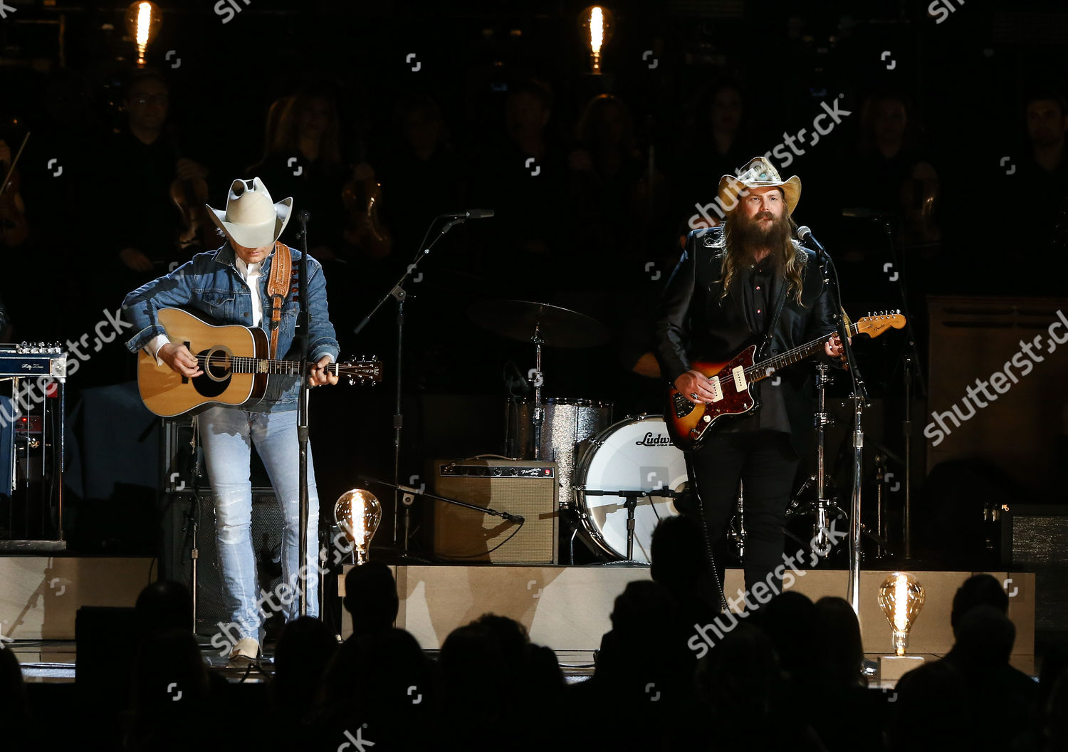
{"type": "MultiPolygon", "coordinates": [[[[300,448],[297,411],[249,412],[233,407],[213,407],[198,417],[201,445],[215,497],[216,545],[219,568],[231,622],[238,639],[262,641],[261,610],[280,609],[286,621],[300,615],[297,578],[300,534],[300,448]],[[277,593],[264,593],[256,583],[256,559],[252,548],[251,448],[267,469],[274,496],[282,508],[282,582],[277,593]],[[286,588],[288,585],[288,589],[286,588]]],[[[317,616],[319,498],[315,488],[312,450],[308,448],[308,615],[317,616]]]]}

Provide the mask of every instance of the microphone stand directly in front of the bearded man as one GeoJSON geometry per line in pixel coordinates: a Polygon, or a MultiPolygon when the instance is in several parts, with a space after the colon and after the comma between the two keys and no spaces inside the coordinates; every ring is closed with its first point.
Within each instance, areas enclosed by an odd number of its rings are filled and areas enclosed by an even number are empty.
{"type": "Polygon", "coordinates": [[[819,254],[820,264],[823,267],[823,282],[832,291],[835,306],[835,317],[838,324],[838,339],[842,341],[842,351],[846,356],[846,363],[849,366],[849,374],[853,380],[853,391],[850,400],[853,403],[853,489],[849,505],[849,584],[846,589],[846,600],[852,606],[857,617],[861,615],[861,484],[863,481],[864,460],[864,407],[867,405],[867,390],[864,387],[864,379],[860,369],[857,366],[857,358],[853,356],[852,345],[849,343],[849,328],[846,326],[846,318],[843,315],[845,309],[842,308],[842,289],[838,286],[838,272],[834,268],[834,262],[823,247],[811,235],[808,236],[813,246],[819,254]],[[834,284],[830,284],[831,273],[834,273],[834,284]]]}

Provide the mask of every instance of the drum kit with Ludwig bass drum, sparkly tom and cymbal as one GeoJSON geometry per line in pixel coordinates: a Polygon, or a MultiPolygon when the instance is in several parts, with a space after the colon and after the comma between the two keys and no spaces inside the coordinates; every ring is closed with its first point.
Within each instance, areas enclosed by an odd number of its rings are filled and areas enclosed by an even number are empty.
{"type": "Polygon", "coordinates": [[[608,341],[608,329],[577,311],[524,300],[476,303],[468,313],[497,334],[534,345],[534,396],[507,406],[508,454],[556,463],[571,561],[578,536],[612,563],[648,564],[653,529],[678,514],[675,499],[689,480],[663,418],[628,416],[613,423],[612,403],[541,394],[543,346],[595,347],[608,341]]]}

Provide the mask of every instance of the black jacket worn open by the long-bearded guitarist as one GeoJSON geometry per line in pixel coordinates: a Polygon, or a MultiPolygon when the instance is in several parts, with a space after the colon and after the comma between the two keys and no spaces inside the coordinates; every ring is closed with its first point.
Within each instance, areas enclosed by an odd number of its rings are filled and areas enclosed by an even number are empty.
{"type": "MultiPolygon", "coordinates": [[[[794,298],[792,291],[787,292],[764,358],[817,338],[828,338],[837,329],[830,291],[823,283],[816,254],[797,241],[794,245],[806,258],[801,275],[801,302],[794,298]]],[[[727,360],[749,345],[759,344],[764,338],[764,332],[757,331],[755,312],[745,296],[738,294],[737,288],[726,297],[722,295],[720,271],[725,252],[722,226],[694,230],[687,237],[686,250],[668,280],[654,323],[654,335],[660,373],[671,383],[689,371],[694,360],[727,360]]],[[[785,284],[785,279],[775,277],[768,291],[769,299],[778,301],[785,284]]],[[[773,310],[772,304],[768,319],[773,310]]],[[[760,357],[758,352],[757,358],[760,357]]],[[[822,350],[818,357],[824,362],[830,360],[822,350]]],[[[790,433],[795,449],[799,451],[807,444],[813,426],[812,371],[811,363],[798,363],[780,372],[790,433]]]]}

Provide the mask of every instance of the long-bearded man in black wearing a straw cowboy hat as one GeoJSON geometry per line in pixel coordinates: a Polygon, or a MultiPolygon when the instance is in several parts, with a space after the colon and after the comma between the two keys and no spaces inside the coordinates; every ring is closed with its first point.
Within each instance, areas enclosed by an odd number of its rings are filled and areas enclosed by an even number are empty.
{"type": "MultiPolygon", "coordinates": [[[[737,177],[720,181],[717,201],[726,212],[724,224],[688,236],[654,330],[660,372],[690,402],[710,403],[716,396],[709,379],[691,370],[692,361],[729,360],[765,334],[770,340],[764,357],[820,336],[828,338],[828,358],[842,357],[816,254],[791,237],[800,195],[797,175],[783,181],[757,157],[737,177]]],[[[760,389],[760,410],[722,420],[689,453],[709,545],[724,537],[742,482],[750,593],[761,581],[773,592],[782,589],[782,529],[800,449],[813,425],[811,370],[786,369],[779,375],[753,386],[760,389]]],[[[757,604],[748,598],[747,605],[757,604]]]]}

